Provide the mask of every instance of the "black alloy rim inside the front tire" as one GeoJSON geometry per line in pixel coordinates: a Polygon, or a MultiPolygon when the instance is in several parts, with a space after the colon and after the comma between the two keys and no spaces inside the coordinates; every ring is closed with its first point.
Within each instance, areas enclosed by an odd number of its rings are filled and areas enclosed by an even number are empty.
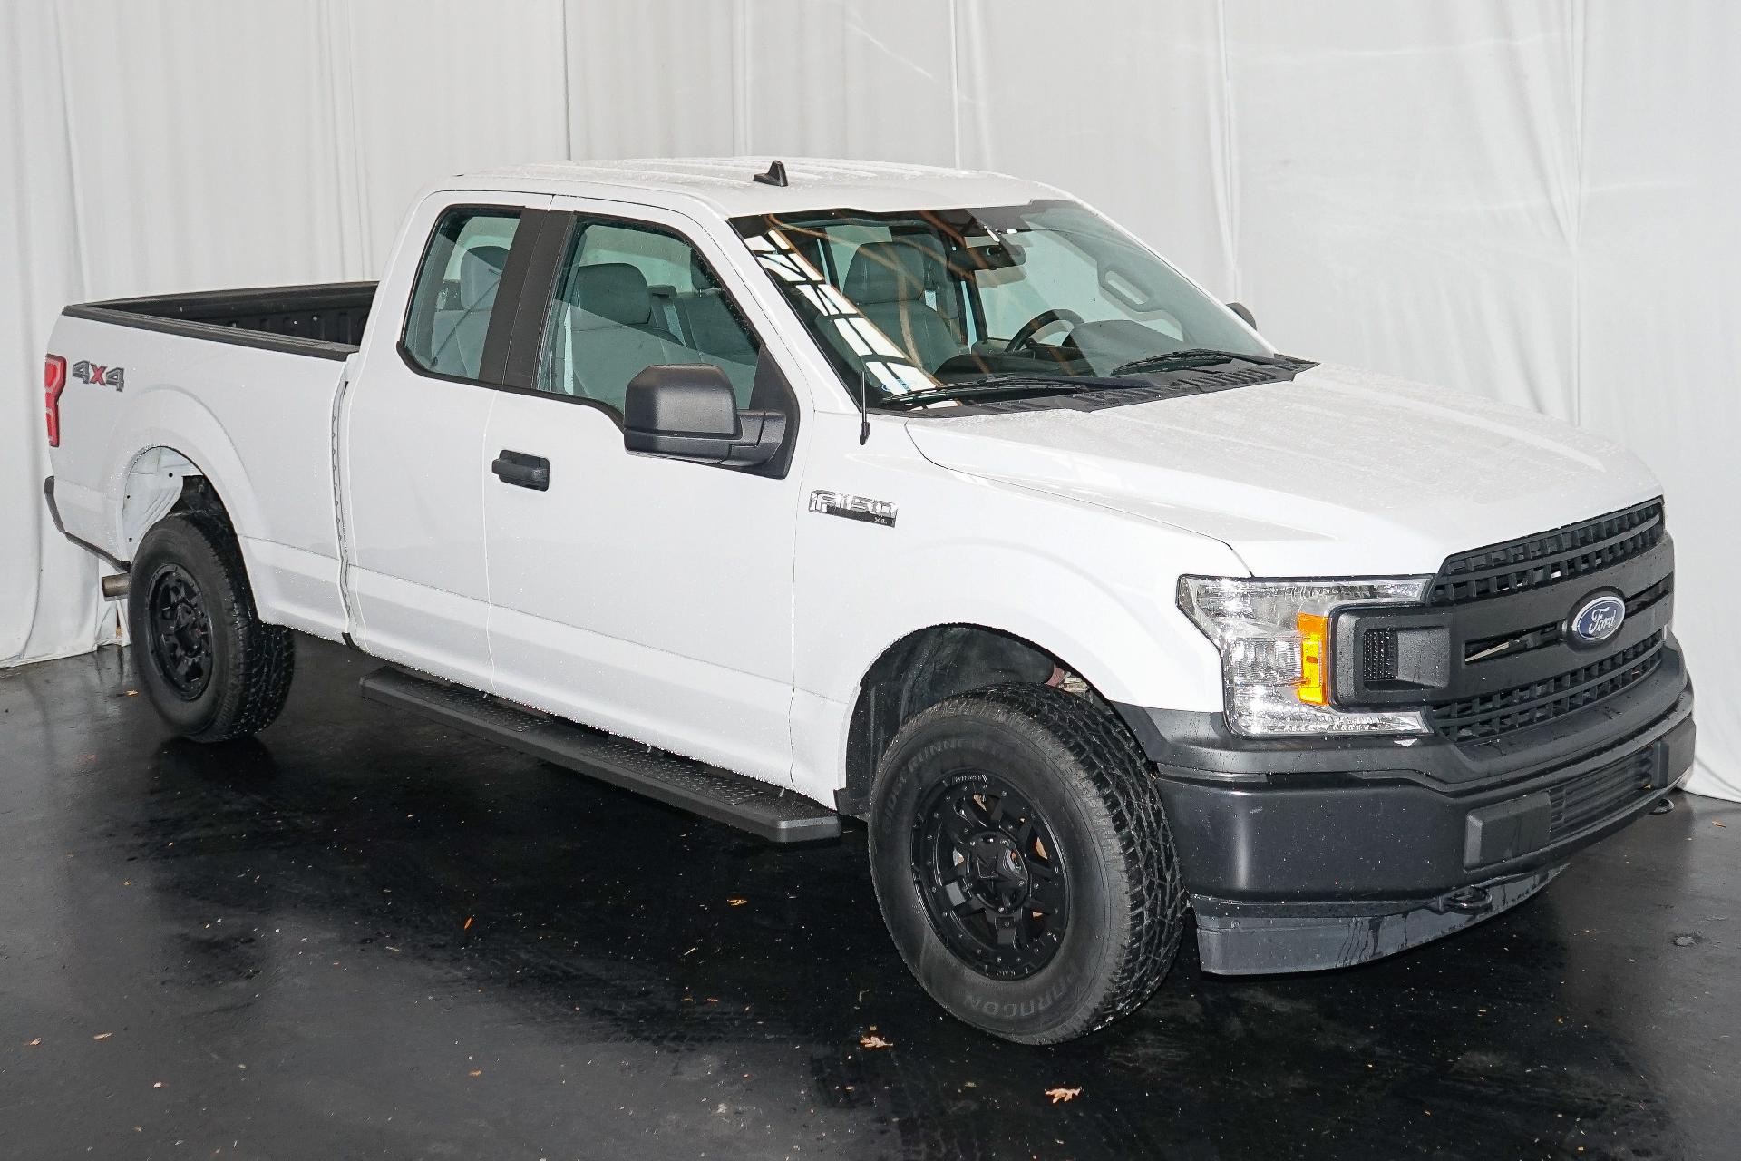
{"type": "Polygon", "coordinates": [[[944,947],[987,978],[1027,978],[1064,942],[1064,851],[1034,804],[996,775],[931,787],[914,820],[912,874],[944,947]]]}

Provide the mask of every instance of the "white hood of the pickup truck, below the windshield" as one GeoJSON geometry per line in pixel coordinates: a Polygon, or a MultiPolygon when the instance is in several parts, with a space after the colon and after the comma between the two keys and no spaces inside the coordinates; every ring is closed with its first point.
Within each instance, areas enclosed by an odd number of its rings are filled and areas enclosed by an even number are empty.
{"type": "Polygon", "coordinates": [[[1617,444],[1353,367],[1104,407],[907,423],[945,468],[1212,536],[1257,576],[1426,574],[1661,493],[1617,444]]]}

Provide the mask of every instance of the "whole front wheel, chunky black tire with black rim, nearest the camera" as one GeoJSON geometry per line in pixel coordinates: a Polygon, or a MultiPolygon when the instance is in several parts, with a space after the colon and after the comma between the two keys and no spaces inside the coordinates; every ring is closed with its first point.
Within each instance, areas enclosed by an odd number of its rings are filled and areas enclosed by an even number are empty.
{"type": "Polygon", "coordinates": [[[959,695],[895,735],[870,799],[870,876],[919,985],[1022,1044],[1139,1008],[1184,931],[1147,764],[1116,719],[1048,686],[959,695]]]}

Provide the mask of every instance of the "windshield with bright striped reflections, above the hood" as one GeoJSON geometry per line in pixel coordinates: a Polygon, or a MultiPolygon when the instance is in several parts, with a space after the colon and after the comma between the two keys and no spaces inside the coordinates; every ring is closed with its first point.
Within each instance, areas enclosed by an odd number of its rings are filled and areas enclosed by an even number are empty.
{"type": "Polygon", "coordinates": [[[872,404],[963,383],[1137,376],[1170,352],[1273,352],[1076,202],[733,221],[872,404]]]}

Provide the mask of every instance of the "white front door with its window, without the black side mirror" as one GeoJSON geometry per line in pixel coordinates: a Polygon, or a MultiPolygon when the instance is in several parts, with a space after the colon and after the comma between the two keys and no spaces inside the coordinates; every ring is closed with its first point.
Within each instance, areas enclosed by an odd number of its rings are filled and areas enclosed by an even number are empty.
{"type": "Polygon", "coordinates": [[[583,198],[554,209],[573,216],[536,366],[528,390],[498,392],[484,440],[536,473],[484,489],[496,693],[787,783],[790,449],[757,472],[630,454],[622,409],[655,364],[721,367],[740,407],[789,413],[794,442],[797,400],[693,223],[583,198]]]}

